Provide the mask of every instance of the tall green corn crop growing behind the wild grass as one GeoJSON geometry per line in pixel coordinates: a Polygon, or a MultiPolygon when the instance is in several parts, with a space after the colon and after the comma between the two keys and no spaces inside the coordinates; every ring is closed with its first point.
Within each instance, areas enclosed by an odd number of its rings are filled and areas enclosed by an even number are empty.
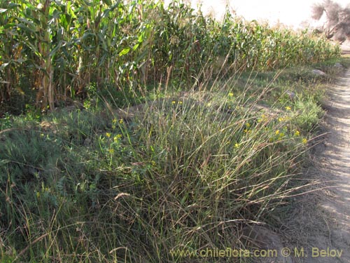
{"type": "Polygon", "coordinates": [[[167,8],[141,0],[0,2],[2,104],[22,97],[48,110],[91,86],[144,94],[159,83],[337,55],[337,46],[307,30],[272,29],[229,12],[217,22],[177,1],[167,8]]]}

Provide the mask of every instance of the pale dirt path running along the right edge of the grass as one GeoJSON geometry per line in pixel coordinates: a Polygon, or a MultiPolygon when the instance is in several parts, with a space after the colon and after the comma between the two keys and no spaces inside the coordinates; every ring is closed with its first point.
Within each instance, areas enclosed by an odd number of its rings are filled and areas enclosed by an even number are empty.
{"type": "Polygon", "coordinates": [[[308,173],[326,188],[297,205],[291,224],[305,254],[294,262],[350,263],[350,69],[330,87],[325,107],[327,135],[315,147],[308,173]]]}

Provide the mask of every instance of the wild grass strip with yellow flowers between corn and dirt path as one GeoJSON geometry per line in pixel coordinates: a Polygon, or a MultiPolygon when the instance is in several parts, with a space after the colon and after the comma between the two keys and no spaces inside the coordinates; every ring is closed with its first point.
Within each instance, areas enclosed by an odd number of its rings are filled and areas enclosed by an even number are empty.
{"type": "Polygon", "coordinates": [[[300,67],[155,89],[125,119],[101,94],[102,110],[0,119],[1,263],[189,262],[172,250],[245,248],[241,227],[275,224],[300,188],[332,63],[317,66],[328,78],[300,67]]]}

